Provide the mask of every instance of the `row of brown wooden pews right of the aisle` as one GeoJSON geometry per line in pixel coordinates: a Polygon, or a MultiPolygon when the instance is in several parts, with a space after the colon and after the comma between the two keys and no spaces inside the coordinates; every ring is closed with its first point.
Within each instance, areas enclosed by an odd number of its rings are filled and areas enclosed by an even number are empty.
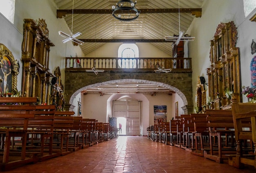
{"type": "Polygon", "coordinates": [[[205,114],[175,117],[168,125],[152,125],[147,128],[148,138],[218,163],[228,159],[229,164],[237,168],[242,168],[244,164],[256,167],[255,117],[255,103],[234,102],[232,110],[211,109],[205,114]]]}

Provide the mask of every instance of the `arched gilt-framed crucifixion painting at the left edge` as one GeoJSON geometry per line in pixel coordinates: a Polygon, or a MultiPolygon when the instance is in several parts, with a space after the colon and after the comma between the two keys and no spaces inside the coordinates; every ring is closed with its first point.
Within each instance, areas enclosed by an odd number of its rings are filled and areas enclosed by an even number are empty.
{"type": "Polygon", "coordinates": [[[0,44],[0,94],[17,94],[17,76],[19,74],[19,62],[14,59],[10,50],[0,44]]]}

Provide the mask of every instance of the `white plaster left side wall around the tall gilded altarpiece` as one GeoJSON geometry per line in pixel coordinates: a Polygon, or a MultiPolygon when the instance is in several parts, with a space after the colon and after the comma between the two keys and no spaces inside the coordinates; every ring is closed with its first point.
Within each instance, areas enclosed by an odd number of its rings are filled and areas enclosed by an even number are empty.
{"type": "MultiPolygon", "coordinates": [[[[33,19],[38,22],[39,18],[44,19],[47,28],[49,29],[49,39],[52,40],[55,46],[50,49],[50,63],[49,69],[54,71],[59,66],[61,70],[62,83],[65,87],[65,57],[75,57],[76,53],[79,57],[84,56],[79,46],[73,46],[72,42],[62,43],[65,39],[58,34],[58,31],[64,33],[71,33],[64,18],[56,18],[56,5],[53,0],[16,0],[14,25],[17,28],[16,32],[1,32],[0,34],[7,34],[9,39],[19,33],[21,37],[16,39],[18,42],[19,52],[21,54],[21,42],[23,39],[23,19],[33,19]],[[8,35],[9,34],[9,35],[8,35]]],[[[73,31],[75,33],[76,31],[73,31]]],[[[2,42],[2,41],[1,41],[2,42]]],[[[13,42],[12,42],[13,43],[13,42]]],[[[18,58],[18,57],[16,57],[18,58]]],[[[19,56],[19,59],[21,55],[19,56]]]]}

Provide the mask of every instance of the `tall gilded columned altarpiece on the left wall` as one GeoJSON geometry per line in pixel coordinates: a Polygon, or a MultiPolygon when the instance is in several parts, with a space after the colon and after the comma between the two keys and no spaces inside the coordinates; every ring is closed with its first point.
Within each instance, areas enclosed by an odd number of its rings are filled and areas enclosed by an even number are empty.
{"type": "Polygon", "coordinates": [[[22,94],[25,97],[38,97],[41,103],[49,104],[50,47],[54,44],[49,39],[49,30],[45,20],[36,23],[32,19],[24,20],[22,42],[22,94]]]}

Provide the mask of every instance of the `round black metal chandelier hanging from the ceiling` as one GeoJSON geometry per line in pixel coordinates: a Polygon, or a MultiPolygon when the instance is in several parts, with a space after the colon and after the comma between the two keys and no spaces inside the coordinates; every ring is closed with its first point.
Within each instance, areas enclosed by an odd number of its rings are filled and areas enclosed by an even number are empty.
{"type": "Polygon", "coordinates": [[[140,11],[135,8],[137,1],[120,0],[117,5],[112,6],[112,15],[121,21],[131,21],[139,17],[140,11]]]}

